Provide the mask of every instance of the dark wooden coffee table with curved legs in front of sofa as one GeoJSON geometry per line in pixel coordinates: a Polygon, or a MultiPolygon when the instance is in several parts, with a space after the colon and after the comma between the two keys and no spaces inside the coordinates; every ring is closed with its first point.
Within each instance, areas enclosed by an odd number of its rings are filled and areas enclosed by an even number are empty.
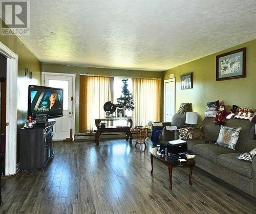
{"type": "Polygon", "coordinates": [[[168,171],[169,171],[169,180],[170,180],[170,185],[169,188],[172,189],[173,188],[173,184],[172,184],[172,174],[173,174],[173,168],[174,167],[189,167],[189,176],[188,176],[188,182],[189,185],[192,185],[191,182],[191,177],[192,177],[192,171],[193,171],[193,166],[195,165],[196,161],[193,159],[188,159],[186,162],[180,162],[180,161],[171,161],[168,160],[165,157],[162,156],[158,156],[157,155],[157,148],[152,148],[150,150],[150,158],[151,158],[151,173],[153,173],[154,171],[154,165],[153,165],[153,158],[156,158],[158,160],[161,160],[162,162],[164,162],[165,164],[168,165],[168,171]]]}

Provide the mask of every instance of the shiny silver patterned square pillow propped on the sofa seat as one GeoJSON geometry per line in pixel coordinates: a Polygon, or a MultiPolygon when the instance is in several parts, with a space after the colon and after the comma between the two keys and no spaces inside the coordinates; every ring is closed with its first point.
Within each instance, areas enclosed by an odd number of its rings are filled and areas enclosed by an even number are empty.
{"type": "Polygon", "coordinates": [[[227,126],[221,126],[219,137],[217,139],[216,144],[234,150],[241,129],[241,127],[231,128],[227,126]]]}

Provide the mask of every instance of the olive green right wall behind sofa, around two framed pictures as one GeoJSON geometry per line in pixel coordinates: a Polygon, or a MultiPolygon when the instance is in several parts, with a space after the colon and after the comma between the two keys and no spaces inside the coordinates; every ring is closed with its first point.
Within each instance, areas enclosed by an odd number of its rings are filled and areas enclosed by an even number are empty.
{"type": "Polygon", "coordinates": [[[195,61],[166,70],[164,80],[169,74],[176,78],[176,112],[181,102],[192,103],[193,111],[198,112],[201,124],[207,102],[220,100],[226,110],[236,104],[238,106],[256,108],[256,40],[234,46],[230,49],[212,54],[195,61]],[[216,56],[232,50],[246,47],[246,78],[216,81],[216,56]],[[180,75],[193,72],[193,89],[180,89],[180,75]]]}

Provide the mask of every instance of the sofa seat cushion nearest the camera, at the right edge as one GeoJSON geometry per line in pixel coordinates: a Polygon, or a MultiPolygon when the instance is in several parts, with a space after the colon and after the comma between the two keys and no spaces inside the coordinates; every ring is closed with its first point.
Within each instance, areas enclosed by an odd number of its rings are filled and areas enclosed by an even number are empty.
{"type": "Polygon", "coordinates": [[[217,164],[247,178],[252,178],[252,163],[250,161],[239,160],[237,158],[239,154],[221,154],[217,157],[217,164]]]}

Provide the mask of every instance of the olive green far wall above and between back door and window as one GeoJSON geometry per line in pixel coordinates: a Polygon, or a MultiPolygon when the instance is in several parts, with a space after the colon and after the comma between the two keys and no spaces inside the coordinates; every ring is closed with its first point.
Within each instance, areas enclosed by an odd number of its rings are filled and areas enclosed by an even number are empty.
{"type": "Polygon", "coordinates": [[[110,68],[95,68],[81,66],[66,66],[57,64],[42,63],[42,72],[70,73],[76,75],[75,92],[75,133],[79,132],[79,77],[81,74],[102,75],[102,76],[122,76],[122,77],[142,77],[142,78],[162,78],[162,72],[145,72],[142,70],[124,70],[110,68]]]}

